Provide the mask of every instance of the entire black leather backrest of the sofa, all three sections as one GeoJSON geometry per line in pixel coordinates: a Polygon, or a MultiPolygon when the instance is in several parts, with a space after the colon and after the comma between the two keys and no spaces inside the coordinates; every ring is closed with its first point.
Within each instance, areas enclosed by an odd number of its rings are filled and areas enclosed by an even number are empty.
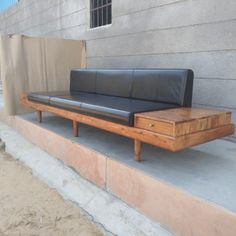
{"type": "Polygon", "coordinates": [[[71,71],[72,91],[192,105],[188,69],[80,69],[71,71]]]}

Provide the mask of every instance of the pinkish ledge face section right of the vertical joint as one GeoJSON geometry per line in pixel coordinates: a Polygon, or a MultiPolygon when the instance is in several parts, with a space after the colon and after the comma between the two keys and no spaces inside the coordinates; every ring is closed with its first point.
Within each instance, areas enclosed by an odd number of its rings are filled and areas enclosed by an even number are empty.
{"type": "Polygon", "coordinates": [[[236,215],[113,160],[107,189],[177,235],[235,235],[236,215]]]}

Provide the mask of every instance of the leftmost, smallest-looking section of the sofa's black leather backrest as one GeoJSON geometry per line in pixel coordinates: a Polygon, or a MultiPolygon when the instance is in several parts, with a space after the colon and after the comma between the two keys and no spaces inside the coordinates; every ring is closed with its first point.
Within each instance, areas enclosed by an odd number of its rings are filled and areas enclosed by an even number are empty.
{"type": "Polygon", "coordinates": [[[70,90],[95,93],[96,74],[96,70],[72,70],[70,73],[70,90]]]}

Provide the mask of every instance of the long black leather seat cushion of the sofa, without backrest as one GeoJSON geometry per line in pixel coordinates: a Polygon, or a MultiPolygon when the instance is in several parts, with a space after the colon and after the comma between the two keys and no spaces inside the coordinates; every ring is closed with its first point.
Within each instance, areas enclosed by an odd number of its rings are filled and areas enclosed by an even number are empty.
{"type": "MultiPolygon", "coordinates": [[[[135,113],[177,107],[177,105],[174,104],[142,101],[94,93],[72,92],[64,95],[59,94],[58,96],[56,96],[56,94],[54,94],[54,96],[47,94],[46,96],[49,96],[49,105],[51,106],[77,111],[82,114],[129,126],[133,126],[135,113]]],[[[32,97],[34,97],[35,101],[38,96],[34,96],[34,94],[31,93],[29,99],[31,100],[32,97]]],[[[38,101],[41,102],[41,97],[39,97],[38,101]]]]}

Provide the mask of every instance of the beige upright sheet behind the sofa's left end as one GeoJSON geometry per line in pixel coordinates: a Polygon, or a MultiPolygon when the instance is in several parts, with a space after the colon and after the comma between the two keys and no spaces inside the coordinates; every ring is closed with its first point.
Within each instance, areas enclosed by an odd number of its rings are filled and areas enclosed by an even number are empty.
{"type": "Polygon", "coordinates": [[[22,114],[22,92],[69,89],[71,69],[86,67],[85,42],[1,36],[0,64],[5,112],[22,114]]]}

